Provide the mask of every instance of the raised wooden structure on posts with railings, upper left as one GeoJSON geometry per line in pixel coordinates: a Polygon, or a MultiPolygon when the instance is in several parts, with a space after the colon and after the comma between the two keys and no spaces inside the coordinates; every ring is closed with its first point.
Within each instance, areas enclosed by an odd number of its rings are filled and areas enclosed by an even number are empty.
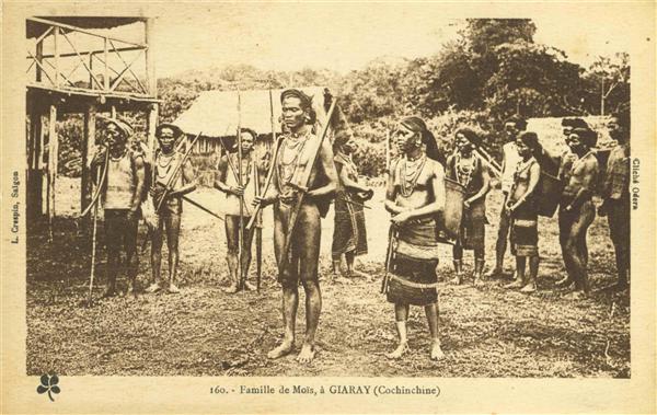
{"type": "Polygon", "coordinates": [[[57,16],[26,21],[27,215],[47,215],[50,235],[56,216],[58,117],[67,113],[83,115],[83,137],[79,141],[81,209],[91,199],[88,164],[95,148],[96,114],[143,112],[148,145],[154,145],[161,101],[153,62],[153,25],[150,18],[57,16]],[[123,30],[132,37],[115,35],[123,30]]]}

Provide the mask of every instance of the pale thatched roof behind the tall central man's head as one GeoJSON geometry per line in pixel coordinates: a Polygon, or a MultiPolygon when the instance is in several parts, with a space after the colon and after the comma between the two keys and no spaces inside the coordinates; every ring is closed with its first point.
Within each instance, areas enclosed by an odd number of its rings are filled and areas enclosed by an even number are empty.
{"type": "MultiPolygon", "coordinates": [[[[323,87],[299,88],[313,96],[313,107],[318,118],[324,117],[323,87]]],[[[281,132],[280,93],[284,90],[272,90],[274,106],[274,125],[276,132],[281,132]]],[[[254,129],[257,134],[272,132],[268,90],[241,91],[241,127],[254,129]]],[[[205,91],[192,106],[173,122],[186,134],[196,135],[203,131],[205,137],[234,136],[238,130],[238,92],[237,91],[205,91]]]]}

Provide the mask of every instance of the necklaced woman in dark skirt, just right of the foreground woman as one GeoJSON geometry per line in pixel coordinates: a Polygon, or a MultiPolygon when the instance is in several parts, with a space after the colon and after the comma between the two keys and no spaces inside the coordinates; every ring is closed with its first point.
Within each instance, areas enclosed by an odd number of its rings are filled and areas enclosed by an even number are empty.
{"type": "Polygon", "coordinates": [[[485,164],[474,153],[479,141],[476,132],[460,128],[454,135],[457,151],[447,160],[447,176],[465,188],[461,230],[453,247],[456,276],[453,284],[463,278],[463,250],[474,251],[474,284],[480,285],[484,272],[484,239],[486,235],[486,194],[489,177],[485,164]]]}

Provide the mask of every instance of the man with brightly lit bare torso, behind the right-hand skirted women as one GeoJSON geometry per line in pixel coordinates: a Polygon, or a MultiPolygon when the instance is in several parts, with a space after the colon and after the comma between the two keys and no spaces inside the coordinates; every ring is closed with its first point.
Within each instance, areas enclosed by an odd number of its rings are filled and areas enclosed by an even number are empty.
{"type": "Polygon", "coordinates": [[[507,142],[502,147],[502,194],[504,195],[504,201],[499,209],[497,242],[495,243],[495,267],[486,273],[486,277],[499,276],[504,272],[504,255],[506,254],[507,238],[509,237],[511,223],[509,211],[505,207],[507,206],[509,192],[514,185],[514,172],[520,161],[516,140],[518,139],[518,135],[525,131],[526,128],[527,120],[519,116],[512,116],[504,124],[504,131],[507,138],[507,142]]]}

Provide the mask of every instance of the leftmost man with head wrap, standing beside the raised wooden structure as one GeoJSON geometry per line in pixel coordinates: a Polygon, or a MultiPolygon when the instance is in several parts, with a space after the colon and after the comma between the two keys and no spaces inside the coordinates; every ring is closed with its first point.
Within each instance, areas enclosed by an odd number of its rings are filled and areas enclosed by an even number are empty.
{"type": "MultiPolygon", "coordinates": [[[[126,293],[136,293],[139,267],[137,257],[137,223],[143,193],[143,157],[126,146],[134,134],[125,122],[108,118],[105,126],[106,148],[102,148],[92,161],[92,171],[106,165],[102,200],[105,211],[105,245],[107,246],[107,289],[103,297],[116,296],[116,275],[120,264],[122,249],[126,254],[128,276],[126,293]],[[107,153],[108,152],[108,153],[107,153]],[[105,164],[106,158],[107,163],[105,164]]],[[[94,174],[94,177],[97,175],[94,174]]]]}

